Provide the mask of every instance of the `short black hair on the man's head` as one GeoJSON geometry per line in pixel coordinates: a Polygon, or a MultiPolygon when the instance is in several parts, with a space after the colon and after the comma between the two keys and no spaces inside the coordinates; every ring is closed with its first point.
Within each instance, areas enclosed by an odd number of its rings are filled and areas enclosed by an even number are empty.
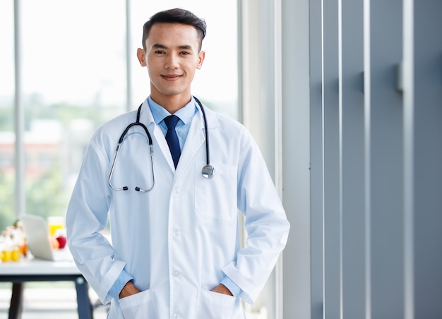
{"type": "Polygon", "coordinates": [[[198,18],[190,11],[174,8],[166,11],[160,11],[155,13],[150,19],[143,25],[143,49],[146,50],[145,40],[149,37],[149,32],[155,23],[182,23],[185,25],[192,25],[198,32],[200,40],[198,50],[201,50],[203,46],[203,39],[205,37],[205,20],[198,18]]]}

